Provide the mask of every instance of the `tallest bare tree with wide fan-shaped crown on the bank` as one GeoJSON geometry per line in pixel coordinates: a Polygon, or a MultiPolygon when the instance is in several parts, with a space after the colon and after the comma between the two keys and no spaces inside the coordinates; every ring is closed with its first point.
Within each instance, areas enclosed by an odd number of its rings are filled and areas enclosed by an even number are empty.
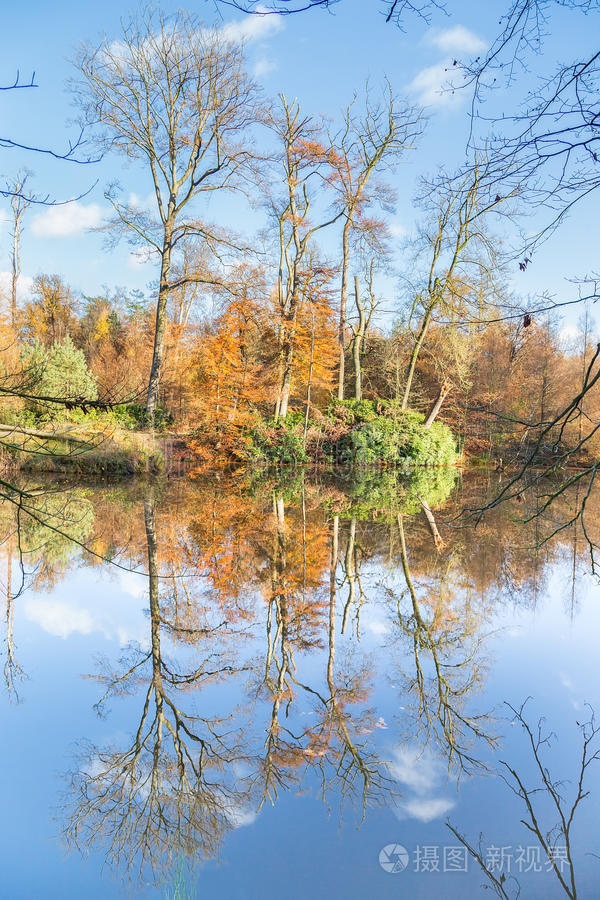
{"type": "Polygon", "coordinates": [[[203,274],[173,280],[175,254],[195,240],[215,251],[217,230],[194,201],[232,189],[250,160],[248,129],[256,121],[255,87],[243,52],[184,12],[146,8],[125,23],[119,40],[83,45],[76,58],[77,100],[100,147],[141,161],[155,198],[151,212],[107,192],[114,225],[160,260],[154,351],[146,410],[158,403],[169,294],[203,274]]]}

